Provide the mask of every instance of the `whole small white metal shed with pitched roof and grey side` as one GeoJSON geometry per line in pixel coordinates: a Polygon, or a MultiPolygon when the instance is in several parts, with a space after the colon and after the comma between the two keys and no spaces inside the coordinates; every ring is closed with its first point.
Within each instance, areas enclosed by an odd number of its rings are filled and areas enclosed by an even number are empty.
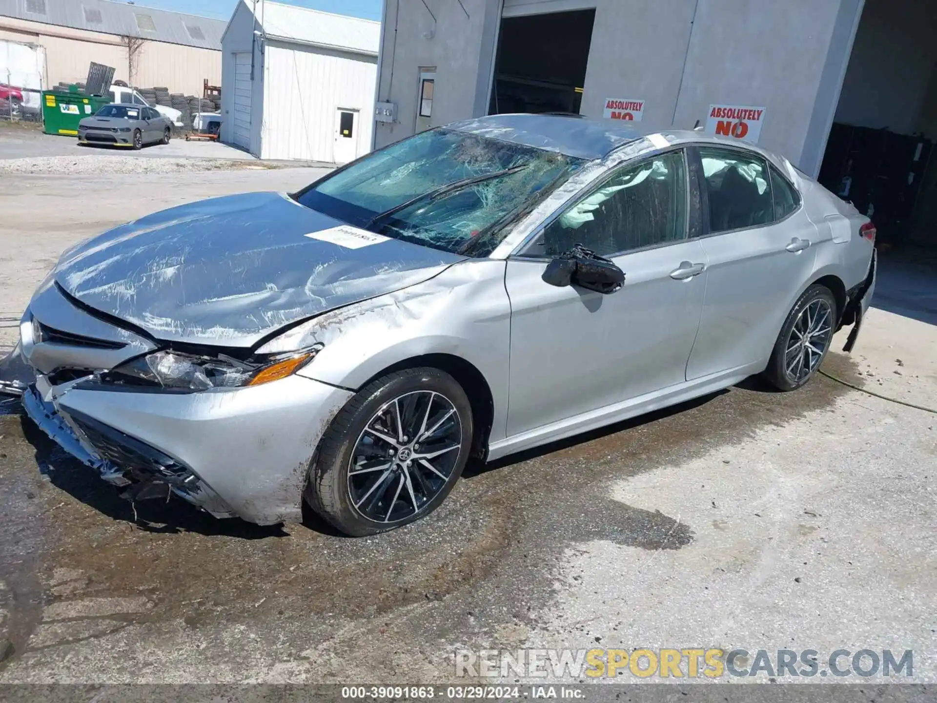
{"type": "Polygon", "coordinates": [[[221,37],[222,141],[260,158],[366,154],[379,34],[379,22],[241,0],[221,37]]]}

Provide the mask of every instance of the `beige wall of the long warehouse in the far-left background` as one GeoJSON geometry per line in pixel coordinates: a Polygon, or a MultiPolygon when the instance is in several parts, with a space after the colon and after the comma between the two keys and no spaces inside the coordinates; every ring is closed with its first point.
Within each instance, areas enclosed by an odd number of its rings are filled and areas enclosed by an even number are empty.
{"type": "MultiPolygon", "coordinates": [[[[0,39],[40,44],[46,48],[44,88],[61,81],[84,82],[92,61],[114,67],[115,80],[131,82],[126,49],[115,35],[0,17],[0,39]]],[[[173,93],[201,96],[202,82],[206,78],[212,85],[221,84],[221,52],[147,41],[140,52],[132,82],[146,88],[165,85],[173,93]]]]}

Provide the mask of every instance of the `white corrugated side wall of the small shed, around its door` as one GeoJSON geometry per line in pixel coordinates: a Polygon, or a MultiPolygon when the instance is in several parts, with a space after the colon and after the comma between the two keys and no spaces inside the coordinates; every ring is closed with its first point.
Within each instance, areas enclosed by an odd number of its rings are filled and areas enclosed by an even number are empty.
{"type": "Polygon", "coordinates": [[[377,57],[268,42],[262,158],[334,162],[339,108],[357,110],[357,156],[370,151],[377,57]]]}

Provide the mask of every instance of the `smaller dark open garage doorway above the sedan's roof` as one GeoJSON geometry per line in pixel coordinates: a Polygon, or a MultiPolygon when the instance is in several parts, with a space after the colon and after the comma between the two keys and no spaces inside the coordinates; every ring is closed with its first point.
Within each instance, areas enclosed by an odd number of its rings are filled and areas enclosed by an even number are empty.
{"type": "Polygon", "coordinates": [[[579,113],[595,10],[505,17],[490,114],[579,113]]]}

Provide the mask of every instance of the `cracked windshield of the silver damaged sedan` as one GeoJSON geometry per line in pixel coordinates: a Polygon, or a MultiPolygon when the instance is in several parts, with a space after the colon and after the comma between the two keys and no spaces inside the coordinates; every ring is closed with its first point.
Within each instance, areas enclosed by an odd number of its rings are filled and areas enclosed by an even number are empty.
{"type": "Polygon", "coordinates": [[[434,129],[353,164],[296,196],[372,232],[484,256],[503,225],[584,161],[464,132],[434,129]]]}

